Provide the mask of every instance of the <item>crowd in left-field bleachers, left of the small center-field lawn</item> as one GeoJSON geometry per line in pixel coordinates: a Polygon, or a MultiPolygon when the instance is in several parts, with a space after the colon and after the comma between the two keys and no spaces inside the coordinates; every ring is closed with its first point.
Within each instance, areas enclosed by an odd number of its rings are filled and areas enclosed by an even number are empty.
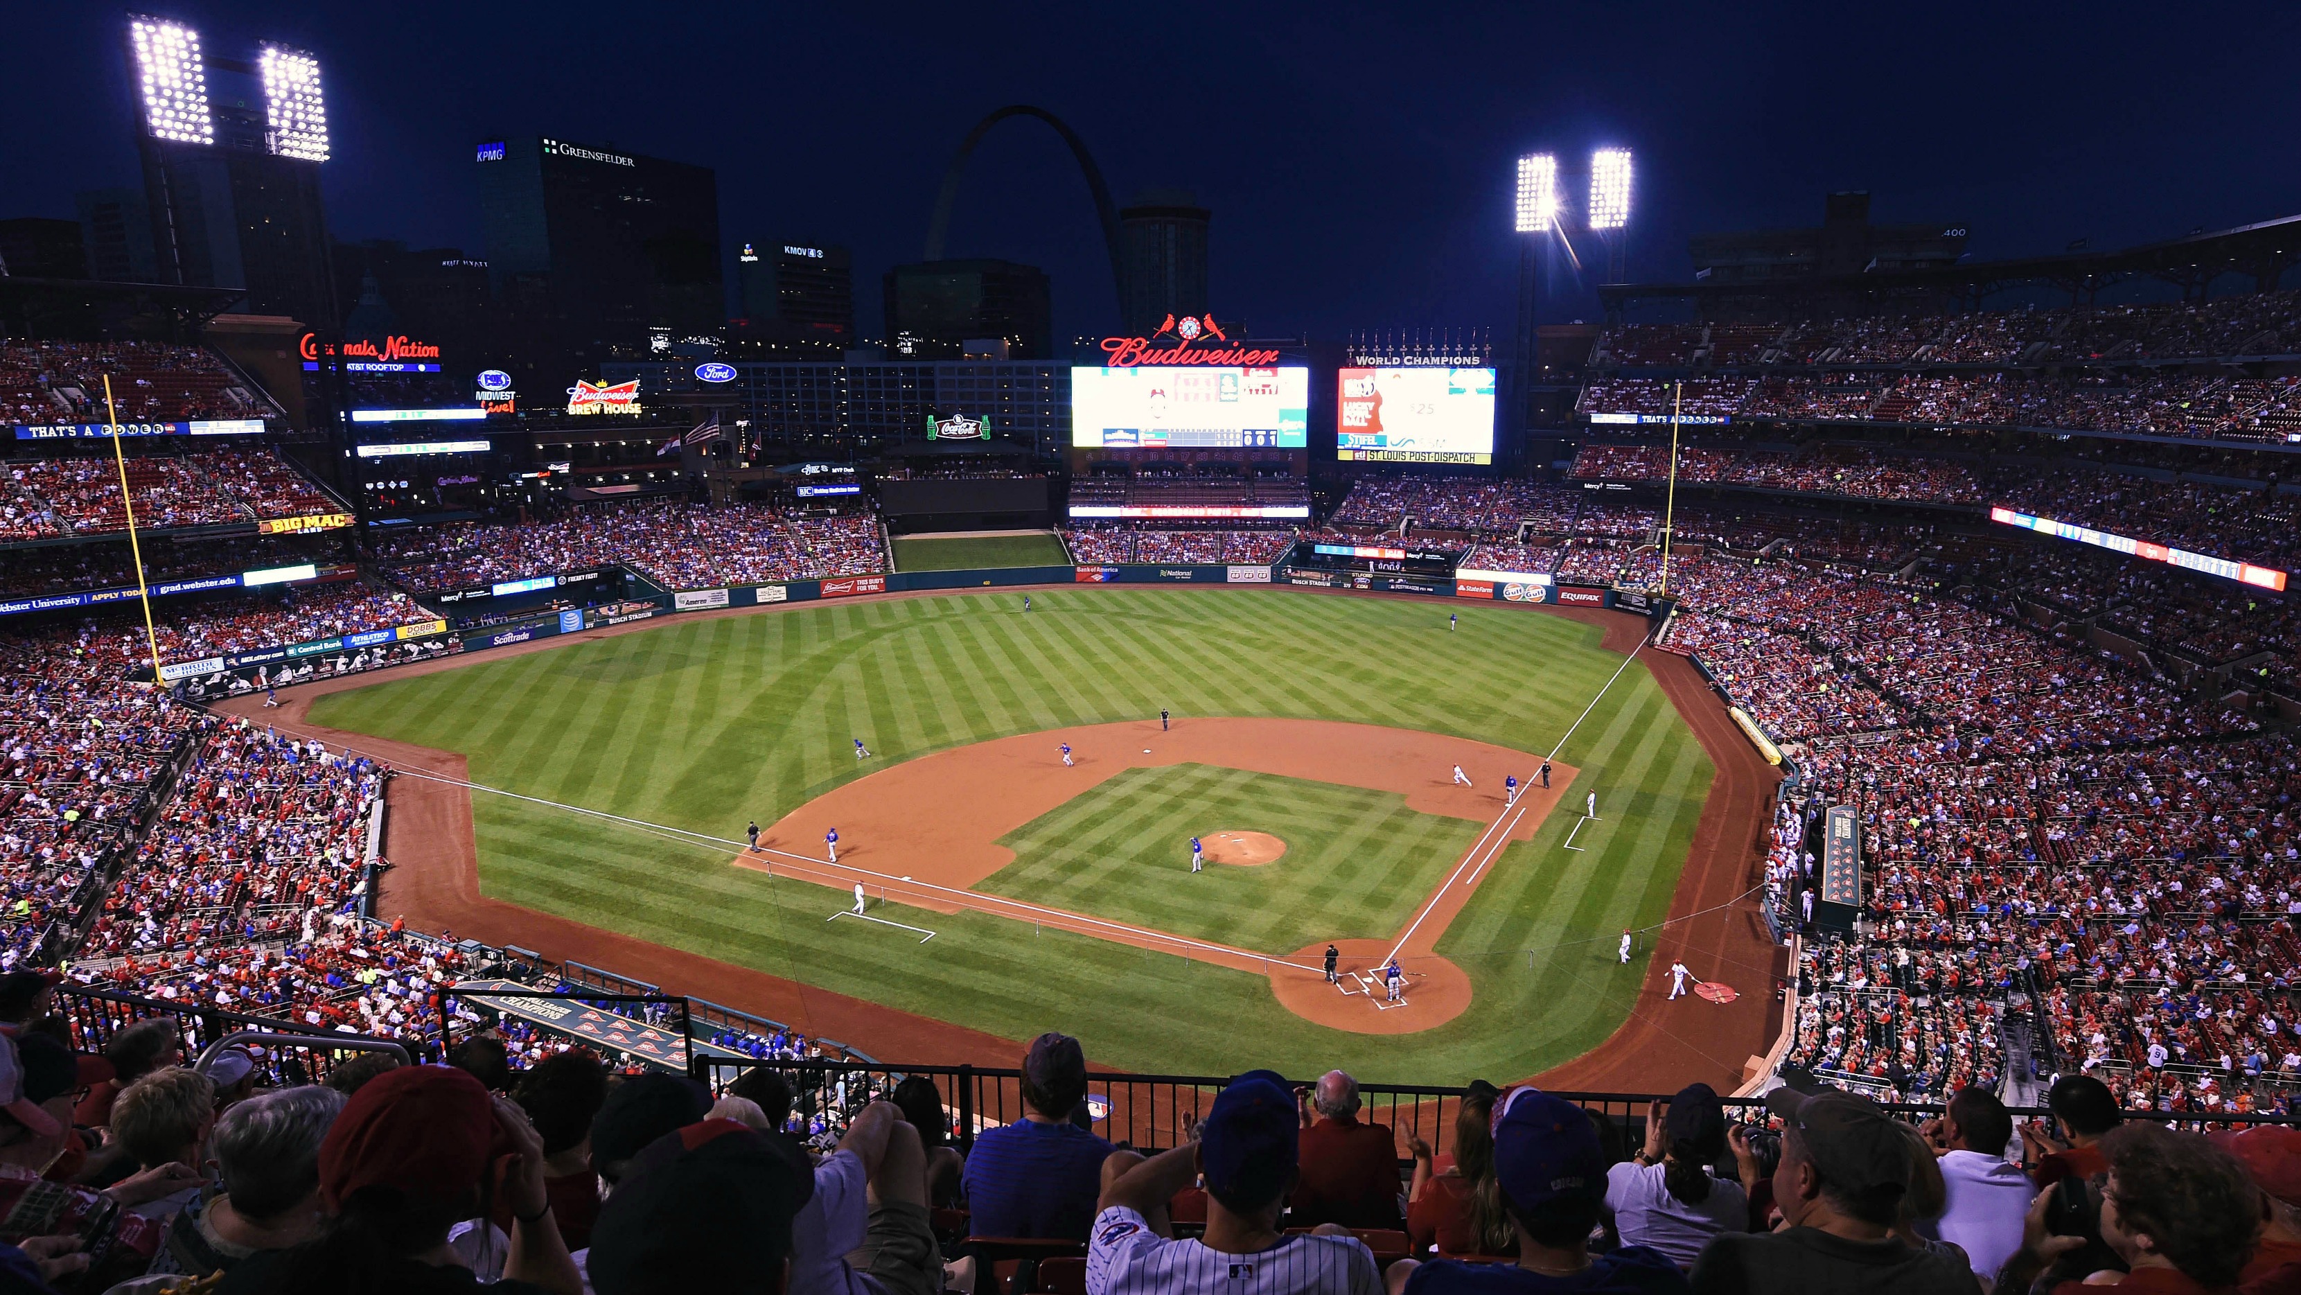
{"type": "Polygon", "coordinates": [[[879,520],[766,504],[601,504],[548,522],[456,522],[377,543],[410,589],[467,589],[626,564],[670,589],[824,580],[886,570],[879,520]]]}

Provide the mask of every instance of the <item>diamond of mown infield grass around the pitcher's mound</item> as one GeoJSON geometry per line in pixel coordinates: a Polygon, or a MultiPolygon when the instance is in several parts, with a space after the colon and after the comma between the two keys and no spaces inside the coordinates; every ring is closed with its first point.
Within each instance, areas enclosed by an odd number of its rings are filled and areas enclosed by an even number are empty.
{"type": "Polygon", "coordinates": [[[1254,952],[1383,938],[1413,920],[1484,823],[1406,796],[1243,768],[1130,768],[1008,833],[976,890],[1254,952]],[[1190,872],[1190,837],[1270,833],[1277,863],[1190,872]]]}

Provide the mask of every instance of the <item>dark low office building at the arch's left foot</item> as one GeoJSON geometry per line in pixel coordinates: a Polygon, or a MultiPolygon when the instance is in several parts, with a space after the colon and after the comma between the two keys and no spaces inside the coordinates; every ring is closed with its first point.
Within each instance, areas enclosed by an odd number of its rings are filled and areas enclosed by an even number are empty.
{"type": "Polygon", "coordinates": [[[1012,359],[1054,354],[1047,274],[1012,260],[930,260],[886,271],[886,334],[895,359],[960,359],[999,338],[1012,359]]]}

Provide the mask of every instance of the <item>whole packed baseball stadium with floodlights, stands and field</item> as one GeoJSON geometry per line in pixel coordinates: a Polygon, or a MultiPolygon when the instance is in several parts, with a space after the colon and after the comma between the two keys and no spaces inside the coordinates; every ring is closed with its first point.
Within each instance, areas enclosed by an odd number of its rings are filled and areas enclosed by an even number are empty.
{"type": "Polygon", "coordinates": [[[1551,124],[1427,193],[1516,320],[1360,327],[987,101],[925,230],[532,133],[412,251],[338,53],[115,18],[143,186],[0,212],[12,1290],[2301,1288],[2301,216],[1551,124]]]}

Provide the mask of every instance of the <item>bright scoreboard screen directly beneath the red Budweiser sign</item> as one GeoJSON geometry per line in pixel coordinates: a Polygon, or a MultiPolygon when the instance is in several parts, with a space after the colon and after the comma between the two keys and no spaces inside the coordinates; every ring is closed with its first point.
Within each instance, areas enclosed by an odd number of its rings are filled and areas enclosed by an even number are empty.
{"type": "Polygon", "coordinates": [[[1077,449],[1305,449],[1307,368],[1072,368],[1077,449]]]}

